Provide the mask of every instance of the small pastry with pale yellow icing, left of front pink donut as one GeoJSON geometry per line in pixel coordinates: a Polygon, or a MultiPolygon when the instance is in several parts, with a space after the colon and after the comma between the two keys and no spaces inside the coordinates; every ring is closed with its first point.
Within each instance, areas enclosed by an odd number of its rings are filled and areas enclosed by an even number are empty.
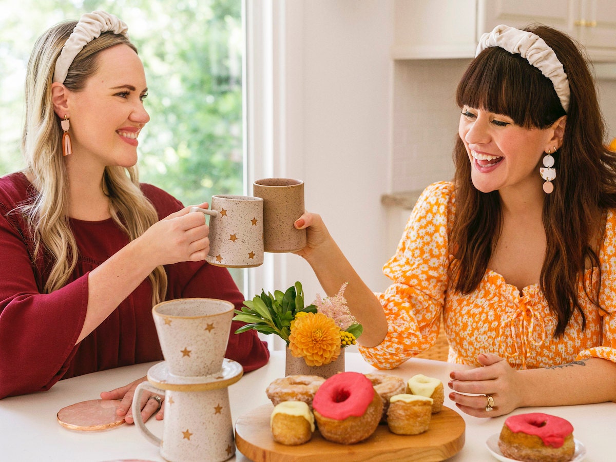
{"type": "Polygon", "coordinates": [[[314,415],[303,401],[283,401],[274,407],[270,427],[276,442],[286,445],[304,444],[314,432],[314,415]]]}

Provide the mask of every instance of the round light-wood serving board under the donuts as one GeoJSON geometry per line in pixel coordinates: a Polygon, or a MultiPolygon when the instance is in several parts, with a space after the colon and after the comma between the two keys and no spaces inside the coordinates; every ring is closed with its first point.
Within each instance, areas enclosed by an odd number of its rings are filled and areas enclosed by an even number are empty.
{"type": "Polygon", "coordinates": [[[443,407],[432,415],[427,432],[413,436],[393,434],[387,425],[379,425],[370,438],[357,444],[344,445],[323,439],[317,431],[306,444],[285,446],[274,441],[270,415],[274,406],[265,404],[241,416],[235,422],[235,444],[238,450],[255,462],[318,461],[323,456],[351,456],[356,461],[445,460],[464,446],[464,419],[456,411],[443,407]]]}

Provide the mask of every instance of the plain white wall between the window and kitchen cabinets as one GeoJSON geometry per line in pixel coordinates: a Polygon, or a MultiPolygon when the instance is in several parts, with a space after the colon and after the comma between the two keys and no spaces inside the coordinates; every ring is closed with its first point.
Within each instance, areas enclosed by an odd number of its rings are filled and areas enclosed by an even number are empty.
{"type": "MultiPolygon", "coordinates": [[[[276,34],[285,40],[280,173],[304,180],[307,210],[322,215],[368,286],[383,290],[381,267],[393,251],[380,203],[391,164],[392,2],[294,0],[283,8],[274,11],[286,23],[276,34]]],[[[325,295],[301,257],[273,258],[282,274],[266,290],[300,280],[307,301],[325,295]]]]}

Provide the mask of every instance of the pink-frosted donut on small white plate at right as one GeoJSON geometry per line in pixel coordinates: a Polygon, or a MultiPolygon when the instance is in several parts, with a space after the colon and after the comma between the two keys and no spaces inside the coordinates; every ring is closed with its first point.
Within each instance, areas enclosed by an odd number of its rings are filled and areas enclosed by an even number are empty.
{"type": "Polygon", "coordinates": [[[572,424],[560,417],[531,412],[508,417],[498,447],[520,461],[567,462],[575,454],[572,424]]]}

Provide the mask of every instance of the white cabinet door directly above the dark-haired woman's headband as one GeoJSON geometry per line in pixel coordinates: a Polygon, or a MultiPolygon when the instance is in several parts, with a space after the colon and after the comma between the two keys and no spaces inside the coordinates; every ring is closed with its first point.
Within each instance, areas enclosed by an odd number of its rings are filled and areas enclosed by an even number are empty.
{"type": "MultiPolygon", "coordinates": [[[[480,0],[477,9],[477,40],[499,24],[524,28],[532,23],[574,33],[573,17],[581,0],[480,0]]],[[[606,0],[609,2],[609,0],[606,0]]]]}

